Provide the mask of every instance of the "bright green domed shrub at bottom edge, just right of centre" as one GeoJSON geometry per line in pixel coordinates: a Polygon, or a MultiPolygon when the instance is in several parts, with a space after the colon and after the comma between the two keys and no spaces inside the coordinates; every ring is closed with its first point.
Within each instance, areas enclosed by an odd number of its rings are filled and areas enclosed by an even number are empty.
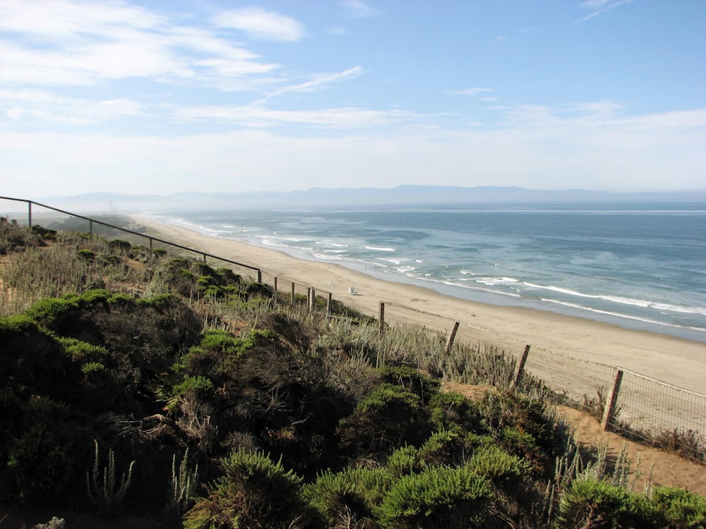
{"type": "Polygon", "coordinates": [[[397,480],[376,514],[390,529],[482,528],[491,499],[487,480],[468,467],[428,467],[397,480]]]}

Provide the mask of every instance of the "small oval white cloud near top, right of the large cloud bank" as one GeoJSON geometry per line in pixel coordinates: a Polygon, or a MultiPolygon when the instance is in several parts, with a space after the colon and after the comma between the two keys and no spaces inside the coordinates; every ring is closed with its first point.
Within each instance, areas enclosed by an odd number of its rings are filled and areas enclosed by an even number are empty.
{"type": "Polygon", "coordinates": [[[211,18],[220,28],[233,28],[256,39],[296,42],[306,35],[304,25],[292,17],[261,8],[222,11],[211,18]]]}

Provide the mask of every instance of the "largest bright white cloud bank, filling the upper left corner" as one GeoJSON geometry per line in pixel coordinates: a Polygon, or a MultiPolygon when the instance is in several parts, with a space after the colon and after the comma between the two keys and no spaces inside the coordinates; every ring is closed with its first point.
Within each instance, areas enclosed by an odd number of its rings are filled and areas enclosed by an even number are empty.
{"type": "MultiPolygon", "coordinates": [[[[270,27],[270,35],[299,35],[282,26],[270,27]]],[[[149,78],[252,90],[272,83],[280,68],[216,32],[126,4],[55,0],[38,9],[29,2],[6,2],[0,4],[0,32],[13,37],[0,40],[6,85],[85,86],[149,78]]]]}

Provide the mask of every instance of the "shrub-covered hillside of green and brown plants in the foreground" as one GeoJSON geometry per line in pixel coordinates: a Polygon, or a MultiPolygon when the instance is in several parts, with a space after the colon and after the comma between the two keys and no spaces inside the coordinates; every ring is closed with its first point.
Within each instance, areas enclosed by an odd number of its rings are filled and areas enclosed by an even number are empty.
{"type": "Polygon", "coordinates": [[[0,225],[4,505],[188,528],[705,523],[704,497],[635,492],[626,458],[510,391],[501,352],[381,336],[124,241],[20,231],[0,225]],[[452,374],[499,388],[441,392],[452,374]]]}

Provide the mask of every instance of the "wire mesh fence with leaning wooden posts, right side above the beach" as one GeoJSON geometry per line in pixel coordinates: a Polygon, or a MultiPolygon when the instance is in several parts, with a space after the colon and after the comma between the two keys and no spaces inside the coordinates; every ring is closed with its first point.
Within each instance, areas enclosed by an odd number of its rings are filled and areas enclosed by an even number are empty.
{"type": "MultiPolygon", "coordinates": [[[[455,347],[465,346],[471,351],[465,358],[453,358],[454,351],[448,343],[450,367],[454,377],[461,382],[473,383],[479,380],[469,370],[477,367],[461,365],[464,360],[474,363],[475,355],[484,355],[491,363],[505,363],[504,369],[493,370],[482,366],[483,382],[489,376],[501,373],[514,377],[510,385],[530,377],[531,384],[525,387],[539,391],[546,399],[556,403],[566,403],[580,408],[597,418],[603,419],[606,429],[624,437],[638,439],[666,449],[678,451],[686,458],[706,463],[706,396],[693,393],[671,384],[621,370],[619,367],[572,358],[554,353],[544,348],[530,346],[510,336],[487,331],[469,324],[420,312],[414,308],[381,303],[384,311],[384,324],[389,327],[399,325],[424,329],[427,332],[441,332],[445,339],[453,340],[455,347]],[[453,334],[452,334],[452,330],[453,334]],[[508,371],[507,363],[510,362],[508,371]],[[616,386],[616,375],[620,373],[616,386]],[[611,392],[615,388],[614,406],[611,407],[611,392]]],[[[480,362],[482,363],[482,362],[480,362]]],[[[496,366],[497,367],[497,366],[496,366]]],[[[518,389],[522,384],[517,384],[518,389]]]]}

